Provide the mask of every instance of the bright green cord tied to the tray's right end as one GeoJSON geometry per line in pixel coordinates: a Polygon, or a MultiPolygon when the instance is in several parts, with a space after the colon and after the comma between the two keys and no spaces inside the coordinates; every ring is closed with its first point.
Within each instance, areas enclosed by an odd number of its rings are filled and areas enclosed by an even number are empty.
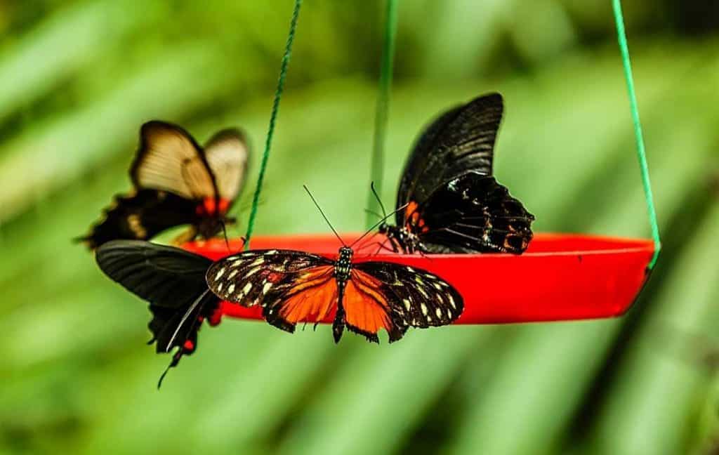
{"type": "Polygon", "coordinates": [[[624,65],[624,77],[627,81],[627,91],[629,93],[629,105],[631,107],[631,116],[634,121],[634,135],[636,136],[636,155],[639,160],[639,169],[641,170],[641,181],[644,185],[644,198],[646,198],[646,209],[649,212],[649,225],[651,226],[651,237],[654,239],[654,256],[649,262],[649,270],[654,268],[656,259],[659,257],[661,250],[661,240],[659,239],[659,224],[656,222],[656,211],[654,210],[654,198],[651,196],[651,183],[649,183],[649,167],[646,164],[646,152],[644,150],[644,137],[641,134],[641,123],[639,121],[639,109],[636,104],[636,94],[634,93],[634,81],[631,75],[631,62],[629,60],[629,47],[627,45],[626,32],[624,31],[624,19],[622,17],[622,5],[620,0],[613,0],[614,19],[617,24],[617,37],[619,40],[619,49],[622,53],[622,63],[624,65]]]}

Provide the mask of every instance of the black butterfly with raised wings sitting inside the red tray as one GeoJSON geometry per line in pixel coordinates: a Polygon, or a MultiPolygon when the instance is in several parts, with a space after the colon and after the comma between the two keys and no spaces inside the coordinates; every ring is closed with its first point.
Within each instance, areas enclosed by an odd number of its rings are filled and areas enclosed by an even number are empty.
{"type": "Polygon", "coordinates": [[[492,176],[502,119],[499,93],[480,96],[436,119],[406,163],[396,226],[382,224],[395,251],[510,252],[532,239],[534,216],[492,176]]]}

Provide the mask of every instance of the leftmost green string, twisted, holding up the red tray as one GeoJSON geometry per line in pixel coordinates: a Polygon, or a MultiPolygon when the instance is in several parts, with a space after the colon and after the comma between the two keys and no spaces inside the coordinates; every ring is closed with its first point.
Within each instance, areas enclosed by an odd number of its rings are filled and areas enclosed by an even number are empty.
{"type": "Polygon", "coordinates": [[[252,196],[252,208],[249,212],[249,220],[247,221],[247,234],[244,235],[244,249],[249,249],[249,240],[252,237],[252,230],[255,229],[255,218],[257,217],[257,205],[260,202],[260,192],[262,191],[262,181],[265,180],[265,172],[267,171],[267,160],[270,158],[270,147],[272,146],[272,137],[275,133],[275,121],[280,110],[280,99],[285,88],[285,76],[287,75],[287,66],[290,63],[290,55],[292,55],[292,42],[295,40],[295,29],[297,28],[297,18],[300,15],[300,7],[302,0],[295,0],[295,9],[292,12],[292,20],[290,22],[290,32],[287,35],[287,43],[285,44],[285,54],[282,57],[280,65],[280,77],[277,81],[277,90],[275,90],[275,100],[273,101],[272,114],[270,114],[270,126],[267,128],[267,139],[265,140],[265,152],[262,153],[262,162],[260,162],[260,174],[257,175],[257,186],[255,187],[255,195],[252,196]]]}

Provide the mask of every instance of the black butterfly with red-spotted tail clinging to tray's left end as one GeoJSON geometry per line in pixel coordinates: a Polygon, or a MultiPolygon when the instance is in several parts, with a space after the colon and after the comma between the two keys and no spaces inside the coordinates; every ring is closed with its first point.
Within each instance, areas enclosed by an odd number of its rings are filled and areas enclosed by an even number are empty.
{"type": "Polygon", "coordinates": [[[205,281],[211,259],[141,240],[106,242],[95,257],[105,275],[150,303],[149,344],[155,342],[158,353],[178,348],[168,369],[197,349],[197,332],[203,320],[219,323],[215,316],[220,300],[205,281]]]}

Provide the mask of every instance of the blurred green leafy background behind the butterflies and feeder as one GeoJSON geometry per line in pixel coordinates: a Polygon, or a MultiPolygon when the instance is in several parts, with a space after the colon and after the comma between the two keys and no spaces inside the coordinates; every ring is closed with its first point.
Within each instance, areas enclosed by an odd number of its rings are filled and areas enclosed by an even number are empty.
{"type": "MultiPolygon", "coordinates": [[[[277,1],[0,0],[0,453],[708,454],[719,448],[719,6],[626,1],[664,239],[610,321],[411,331],[226,320],[145,346],[145,304],[71,244],[140,124],[249,133],[247,220],[292,9],[277,1]]],[[[257,233],[365,222],[383,2],[306,0],[257,233]]],[[[649,236],[608,0],[400,2],[383,199],[419,129],[505,97],[496,174],[539,231],[649,236]]],[[[244,232],[244,224],[232,230],[244,232]]],[[[517,285],[522,285],[518,282],[517,285]]]]}

